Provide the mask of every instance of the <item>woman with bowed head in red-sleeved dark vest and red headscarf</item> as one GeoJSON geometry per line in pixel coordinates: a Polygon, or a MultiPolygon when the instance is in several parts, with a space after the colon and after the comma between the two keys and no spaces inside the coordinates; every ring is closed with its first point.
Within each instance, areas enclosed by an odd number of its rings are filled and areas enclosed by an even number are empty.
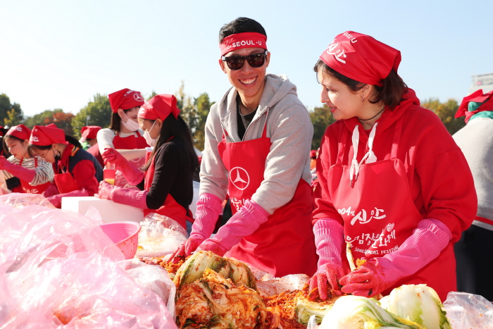
{"type": "Polygon", "coordinates": [[[92,197],[97,192],[103,168],[77,139],[51,123],[35,125],[29,143],[35,154],[53,166],[54,185],[43,193],[51,204],[60,208],[62,197],[92,197]]]}

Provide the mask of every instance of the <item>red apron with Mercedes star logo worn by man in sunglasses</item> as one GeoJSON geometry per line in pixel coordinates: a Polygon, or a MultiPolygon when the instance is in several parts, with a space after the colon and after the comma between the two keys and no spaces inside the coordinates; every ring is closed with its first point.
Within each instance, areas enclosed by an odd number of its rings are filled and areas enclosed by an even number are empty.
{"type": "MultiPolygon", "coordinates": [[[[233,214],[260,187],[271,144],[267,125],[261,138],[228,143],[223,135],[223,141],[218,144],[221,160],[229,172],[227,193],[233,214]]],[[[300,179],[291,201],[274,211],[266,223],[244,237],[226,255],[246,261],[275,277],[298,273],[313,275],[318,256],[311,224],[311,193],[310,185],[300,179]]]]}

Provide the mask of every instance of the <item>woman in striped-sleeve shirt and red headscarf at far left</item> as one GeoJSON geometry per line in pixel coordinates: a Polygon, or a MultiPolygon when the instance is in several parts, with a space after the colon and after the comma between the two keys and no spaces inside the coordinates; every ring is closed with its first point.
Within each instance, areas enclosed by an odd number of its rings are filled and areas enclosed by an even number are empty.
{"type": "Polygon", "coordinates": [[[0,156],[0,169],[6,180],[17,177],[20,186],[12,192],[43,193],[53,180],[51,164],[39,159],[29,147],[31,130],[25,125],[14,125],[4,137],[4,147],[12,154],[8,159],[0,156]]]}

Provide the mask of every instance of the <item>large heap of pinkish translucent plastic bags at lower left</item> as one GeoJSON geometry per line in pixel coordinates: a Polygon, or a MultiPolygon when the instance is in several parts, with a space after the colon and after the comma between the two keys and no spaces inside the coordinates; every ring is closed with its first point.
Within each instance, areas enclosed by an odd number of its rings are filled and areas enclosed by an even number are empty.
{"type": "Polygon", "coordinates": [[[166,273],[125,261],[98,218],[6,194],[0,227],[1,329],[176,328],[166,273]]]}

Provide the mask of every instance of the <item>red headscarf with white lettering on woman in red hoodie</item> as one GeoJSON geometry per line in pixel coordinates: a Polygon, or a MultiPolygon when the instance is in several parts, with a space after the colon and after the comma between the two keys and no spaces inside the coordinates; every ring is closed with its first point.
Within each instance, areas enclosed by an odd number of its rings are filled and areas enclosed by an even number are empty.
{"type": "Polygon", "coordinates": [[[335,37],[320,59],[353,80],[382,87],[392,69],[397,73],[401,52],[369,35],[347,31],[335,37]]]}

